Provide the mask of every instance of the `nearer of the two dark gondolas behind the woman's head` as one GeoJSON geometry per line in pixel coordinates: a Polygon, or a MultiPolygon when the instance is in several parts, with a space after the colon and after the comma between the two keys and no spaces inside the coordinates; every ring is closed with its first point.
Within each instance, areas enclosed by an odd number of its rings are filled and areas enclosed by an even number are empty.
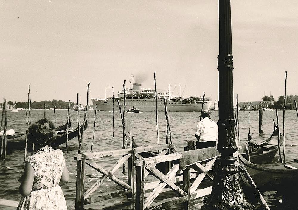
{"type": "MultiPolygon", "coordinates": [[[[84,130],[86,130],[88,126],[87,120],[85,122],[84,130]]],[[[68,133],[68,140],[71,140],[78,136],[78,127],[72,131],[69,131],[68,133]]],[[[80,126],[80,133],[83,131],[83,124],[80,126]]],[[[55,148],[58,147],[59,145],[65,143],[67,141],[67,135],[66,133],[59,134],[57,135],[57,138],[50,144],[51,147],[55,148]]],[[[25,139],[7,139],[7,150],[10,149],[21,149],[23,150],[25,148],[25,139]]],[[[32,149],[32,143],[28,142],[27,144],[28,150],[32,149]]]]}

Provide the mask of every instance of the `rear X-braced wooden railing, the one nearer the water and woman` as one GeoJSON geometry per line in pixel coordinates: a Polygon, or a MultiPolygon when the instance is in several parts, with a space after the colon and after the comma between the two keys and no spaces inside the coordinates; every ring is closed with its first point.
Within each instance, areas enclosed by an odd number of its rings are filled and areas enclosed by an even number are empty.
{"type": "MultiPolygon", "coordinates": [[[[92,153],[82,153],[77,156],[75,156],[75,160],[77,161],[77,182],[76,182],[76,197],[75,197],[75,208],[76,209],[83,209],[84,201],[91,196],[93,192],[95,192],[96,189],[98,189],[106,178],[109,178],[110,180],[117,183],[119,186],[122,187],[122,190],[118,190],[117,193],[110,192],[106,193],[104,195],[98,196],[96,199],[92,200],[93,202],[106,200],[112,197],[122,196],[122,195],[128,195],[129,197],[133,198],[135,194],[135,167],[133,166],[133,163],[137,159],[143,159],[140,153],[145,152],[152,152],[152,151],[159,151],[159,156],[164,156],[166,154],[174,155],[175,158],[177,158],[177,154],[171,154],[176,152],[177,147],[184,147],[187,146],[187,142],[183,142],[180,144],[162,144],[157,146],[148,146],[148,147],[137,147],[137,148],[127,148],[127,149],[121,149],[121,150],[109,150],[109,151],[102,151],[102,152],[92,152],[92,153]],[[98,162],[99,158],[103,157],[110,157],[110,156],[120,156],[119,160],[109,169],[104,169],[100,166],[100,164],[95,163],[98,162]],[[124,163],[128,162],[128,170],[127,170],[127,182],[122,181],[120,178],[114,175],[114,173],[121,167],[124,163]],[[85,164],[92,167],[96,171],[100,172],[102,176],[97,179],[97,181],[89,187],[86,191],[84,190],[84,178],[85,178],[85,164]]],[[[168,156],[167,156],[168,158],[168,156]]],[[[160,161],[159,158],[157,160],[160,161]]],[[[145,162],[147,163],[148,160],[145,158],[145,162]]],[[[165,161],[160,161],[165,162],[165,161]]],[[[156,163],[157,164],[157,163],[156,163]]],[[[155,164],[155,165],[156,165],[155,164]]],[[[151,163],[150,167],[155,166],[154,163],[151,163]]],[[[148,168],[147,166],[146,168],[148,168]]],[[[149,168],[150,168],[149,167],[149,168]]],[[[177,167],[177,166],[176,166],[177,167]]],[[[173,170],[176,170],[175,169],[173,170]]],[[[139,166],[136,166],[137,170],[140,172],[139,166]]],[[[144,168],[144,167],[143,167],[144,168]]],[[[170,176],[175,175],[173,170],[170,172],[171,169],[171,161],[167,161],[167,164],[165,166],[165,171],[170,173],[170,176]]],[[[142,171],[143,169],[141,169],[142,171]]],[[[144,171],[144,170],[143,170],[144,171]]],[[[150,170],[149,170],[150,171],[150,170]]],[[[144,176],[147,176],[149,174],[149,171],[142,172],[144,176]]],[[[157,173],[154,169],[153,171],[157,173]]],[[[151,171],[150,171],[151,172],[151,171]]],[[[162,174],[162,173],[161,173],[162,174]]],[[[160,177],[162,175],[159,174],[160,177]]],[[[137,176],[139,177],[139,176],[137,176]]],[[[138,183],[138,182],[137,182],[138,183]]],[[[146,185],[145,189],[152,189],[150,185],[146,185]]],[[[137,188],[138,189],[138,188],[137,188]]],[[[175,188],[176,189],[176,188],[175,188]]],[[[182,190],[179,192],[183,193],[182,190]]],[[[183,194],[184,195],[184,194],[183,194]]]]}

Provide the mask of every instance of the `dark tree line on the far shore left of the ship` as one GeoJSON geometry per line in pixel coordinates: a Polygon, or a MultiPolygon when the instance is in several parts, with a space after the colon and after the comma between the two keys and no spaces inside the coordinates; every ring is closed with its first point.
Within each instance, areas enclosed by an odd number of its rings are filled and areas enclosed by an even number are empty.
{"type": "MultiPolygon", "coordinates": [[[[72,108],[76,103],[74,102],[70,102],[70,108],[72,108]]],[[[3,103],[0,103],[0,105],[3,105],[3,103]]],[[[7,105],[14,105],[14,108],[27,108],[28,109],[28,102],[12,102],[12,101],[8,101],[7,105]]],[[[32,109],[44,109],[44,105],[46,105],[46,109],[49,108],[53,108],[55,106],[55,108],[57,109],[67,109],[68,108],[68,102],[66,101],[62,101],[62,100],[56,100],[53,99],[52,101],[33,101],[31,102],[31,108],[32,109]]]]}

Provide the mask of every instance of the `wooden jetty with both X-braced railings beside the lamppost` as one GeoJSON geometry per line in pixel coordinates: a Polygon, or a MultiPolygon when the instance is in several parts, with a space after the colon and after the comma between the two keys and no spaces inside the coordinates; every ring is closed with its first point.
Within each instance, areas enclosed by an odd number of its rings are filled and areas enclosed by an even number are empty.
{"type": "Polygon", "coordinates": [[[187,142],[77,155],[75,209],[200,209],[212,190],[212,182],[201,183],[205,178],[213,180],[209,171],[216,157],[182,169],[179,161],[187,152],[176,153],[176,147],[184,146],[187,142]],[[144,157],[153,151],[159,151],[158,156],[144,157]],[[119,160],[110,169],[104,169],[100,158],[110,156],[119,156],[119,160]],[[123,164],[128,166],[127,179],[114,175],[123,164]],[[84,188],[85,166],[102,174],[88,189],[84,188]],[[98,192],[107,178],[117,183],[119,189],[98,192]]]}

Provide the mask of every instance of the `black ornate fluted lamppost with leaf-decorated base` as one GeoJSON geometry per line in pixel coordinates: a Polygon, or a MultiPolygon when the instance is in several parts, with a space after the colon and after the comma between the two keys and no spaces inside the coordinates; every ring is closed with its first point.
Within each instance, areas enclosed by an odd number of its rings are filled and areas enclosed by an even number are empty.
{"type": "Polygon", "coordinates": [[[233,155],[237,151],[233,116],[233,69],[231,4],[230,0],[219,0],[217,150],[221,156],[220,164],[214,171],[211,195],[204,200],[202,209],[243,209],[251,206],[243,194],[240,168],[236,164],[237,157],[233,155]]]}

